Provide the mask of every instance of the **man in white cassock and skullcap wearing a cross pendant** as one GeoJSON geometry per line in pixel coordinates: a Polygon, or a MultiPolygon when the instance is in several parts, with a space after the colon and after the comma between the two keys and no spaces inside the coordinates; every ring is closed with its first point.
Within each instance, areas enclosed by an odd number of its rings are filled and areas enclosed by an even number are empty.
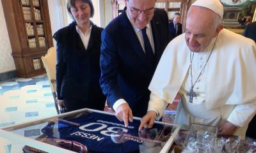
{"type": "Polygon", "coordinates": [[[191,5],[185,33],[168,44],[148,87],[148,112],[139,130],[151,128],[179,92],[175,124],[182,129],[205,124],[244,138],[256,110],[256,45],[224,29],[222,19],[219,0],[191,5]]]}

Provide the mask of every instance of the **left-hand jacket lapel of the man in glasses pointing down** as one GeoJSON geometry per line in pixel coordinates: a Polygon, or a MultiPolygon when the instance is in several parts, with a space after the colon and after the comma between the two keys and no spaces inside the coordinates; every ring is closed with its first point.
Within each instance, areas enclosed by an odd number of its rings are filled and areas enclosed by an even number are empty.
{"type": "Polygon", "coordinates": [[[134,32],[134,29],[132,27],[132,24],[127,17],[125,13],[126,7],[122,14],[120,15],[120,25],[122,25],[122,32],[124,34],[124,39],[126,39],[127,43],[129,43],[129,46],[132,48],[132,50],[135,52],[136,55],[138,55],[141,59],[141,62],[148,68],[152,69],[152,66],[150,65],[150,62],[148,61],[147,55],[145,54],[143,48],[141,47],[140,40],[136,36],[136,33],[134,32]]]}

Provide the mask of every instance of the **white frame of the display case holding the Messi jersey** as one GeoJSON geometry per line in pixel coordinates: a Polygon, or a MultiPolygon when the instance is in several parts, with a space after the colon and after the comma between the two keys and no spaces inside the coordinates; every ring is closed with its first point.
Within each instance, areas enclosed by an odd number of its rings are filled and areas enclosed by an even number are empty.
{"type": "MultiPolygon", "coordinates": [[[[62,113],[59,115],[54,115],[52,117],[47,117],[44,119],[37,119],[37,120],[32,120],[30,122],[24,122],[21,124],[17,124],[17,125],[12,125],[12,126],[6,126],[0,129],[0,136],[3,138],[6,138],[7,140],[11,140],[12,142],[15,143],[19,143],[19,144],[23,144],[23,145],[29,145],[30,147],[34,147],[36,149],[40,149],[40,150],[44,150],[45,152],[73,152],[70,150],[66,150],[66,149],[62,149],[60,147],[56,147],[54,145],[49,145],[47,143],[44,142],[40,142],[40,137],[42,137],[42,135],[40,136],[30,136],[30,137],[25,137],[24,135],[20,135],[17,134],[17,131],[19,130],[24,130],[24,129],[29,129],[33,126],[41,126],[41,128],[43,126],[45,126],[45,124],[49,124],[49,122],[52,122],[52,120],[56,120],[56,119],[61,119],[61,117],[74,117],[79,113],[91,113],[91,112],[95,112],[95,113],[102,113],[102,114],[106,114],[106,115],[114,115],[113,113],[109,113],[109,112],[102,112],[99,110],[91,110],[88,108],[84,108],[81,110],[76,110],[73,112],[68,112],[68,113],[62,113]],[[38,140],[36,140],[38,139],[38,140]]],[[[141,120],[141,118],[139,117],[134,117],[134,120],[141,120]]],[[[161,153],[164,152],[168,152],[170,150],[170,148],[172,147],[172,144],[175,140],[175,136],[179,133],[180,131],[180,126],[176,125],[176,124],[170,124],[170,123],[165,123],[165,122],[159,122],[159,121],[155,121],[155,124],[157,125],[162,125],[162,126],[170,126],[172,127],[172,135],[170,135],[170,137],[168,137],[168,140],[166,140],[166,142],[164,142],[164,145],[161,148],[161,153]]],[[[42,129],[40,129],[42,130],[42,129]]]]}

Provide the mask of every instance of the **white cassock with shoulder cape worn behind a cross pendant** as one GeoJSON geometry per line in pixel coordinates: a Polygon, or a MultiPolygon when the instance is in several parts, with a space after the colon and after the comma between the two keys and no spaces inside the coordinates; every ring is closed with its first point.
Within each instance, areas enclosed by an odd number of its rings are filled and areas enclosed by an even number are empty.
{"type": "Polygon", "coordinates": [[[239,127],[234,135],[243,139],[256,113],[255,42],[223,29],[204,52],[191,55],[193,84],[198,78],[193,103],[189,103],[186,95],[191,89],[190,51],[182,34],[168,44],[159,61],[148,87],[148,110],[156,109],[159,119],[180,92],[182,103],[177,107],[175,124],[182,125],[182,129],[188,129],[191,123],[219,127],[228,120],[239,127]]]}

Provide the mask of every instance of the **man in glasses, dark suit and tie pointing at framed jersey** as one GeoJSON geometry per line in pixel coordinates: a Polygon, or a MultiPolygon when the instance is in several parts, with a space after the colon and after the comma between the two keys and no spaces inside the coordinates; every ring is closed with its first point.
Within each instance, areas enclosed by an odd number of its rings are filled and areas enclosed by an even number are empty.
{"type": "Polygon", "coordinates": [[[148,85],[170,39],[168,16],[156,0],[125,0],[124,11],[102,31],[100,86],[116,117],[147,113],[148,85]]]}

